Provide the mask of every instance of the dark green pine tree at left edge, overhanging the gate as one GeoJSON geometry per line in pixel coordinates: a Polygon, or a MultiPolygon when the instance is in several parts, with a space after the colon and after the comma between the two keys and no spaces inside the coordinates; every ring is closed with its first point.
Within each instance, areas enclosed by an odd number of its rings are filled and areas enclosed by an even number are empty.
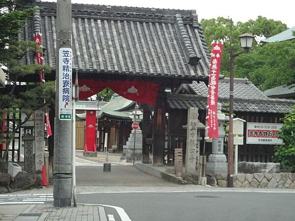
{"type": "MultiPolygon", "coordinates": [[[[7,155],[9,142],[14,134],[24,124],[33,111],[54,104],[55,85],[54,83],[21,83],[25,76],[37,74],[41,69],[48,73],[51,69],[48,66],[25,65],[22,61],[28,51],[38,51],[40,48],[34,42],[17,41],[17,34],[20,28],[25,27],[26,18],[31,16],[34,9],[25,9],[27,4],[34,0],[0,0],[0,65],[5,67],[7,82],[7,93],[0,96],[0,113],[5,110],[15,111],[22,109],[27,117],[20,124],[15,125],[11,130],[11,136],[6,142],[6,150],[2,158],[7,155]],[[21,85],[22,84],[22,85],[21,85]],[[17,89],[18,88],[18,89],[17,89]],[[19,88],[25,88],[23,91],[19,88]],[[44,102],[44,98],[45,101],[44,102]]],[[[3,119],[0,118],[0,122],[3,119]]],[[[9,126],[9,125],[8,125],[9,126]]]]}

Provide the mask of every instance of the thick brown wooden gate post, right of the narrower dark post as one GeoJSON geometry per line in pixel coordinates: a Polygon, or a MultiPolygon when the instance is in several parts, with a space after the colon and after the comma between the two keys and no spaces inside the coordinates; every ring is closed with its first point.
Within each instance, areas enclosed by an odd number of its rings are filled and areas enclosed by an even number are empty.
{"type": "MultiPolygon", "coordinates": [[[[161,88],[160,88],[161,89],[161,88]]],[[[159,90],[157,103],[153,114],[153,165],[164,165],[164,146],[165,146],[165,109],[164,109],[164,88],[159,90]]]]}

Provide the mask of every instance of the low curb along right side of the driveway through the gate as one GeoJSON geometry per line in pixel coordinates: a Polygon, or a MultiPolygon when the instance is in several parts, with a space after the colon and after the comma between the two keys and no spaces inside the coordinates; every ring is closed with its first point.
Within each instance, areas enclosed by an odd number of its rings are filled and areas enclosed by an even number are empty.
{"type": "Polygon", "coordinates": [[[145,173],[148,173],[149,175],[164,179],[166,181],[173,182],[176,184],[187,184],[187,182],[183,180],[181,177],[177,177],[173,174],[163,172],[155,166],[143,164],[143,163],[136,163],[134,166],[144,171],[145,173]]]}

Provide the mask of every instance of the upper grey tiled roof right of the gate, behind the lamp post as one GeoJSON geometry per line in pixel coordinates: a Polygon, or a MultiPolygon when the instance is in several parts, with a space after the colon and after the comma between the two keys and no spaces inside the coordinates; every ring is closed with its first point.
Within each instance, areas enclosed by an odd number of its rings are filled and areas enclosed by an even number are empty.
{"type": "MultiPolygon", "coordinates": [[[[194,81],[189,84],[193,91],[198,95],[207,96],[208,88],[204,82],[197,83],[194,81]]],[[[218,97],[230,97],[230,79],[224,78],[219,80],[218,97]]],[[[264,99],[267,96],[259,90],[252,82],[247,79],[234,79],[234,97],[242,99],[264,99]]]]}

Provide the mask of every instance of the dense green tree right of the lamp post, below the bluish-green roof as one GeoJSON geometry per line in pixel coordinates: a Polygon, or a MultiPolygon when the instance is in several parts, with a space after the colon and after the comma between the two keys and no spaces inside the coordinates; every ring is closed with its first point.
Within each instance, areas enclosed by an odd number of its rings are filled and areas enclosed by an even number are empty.
{"type": "Polygon", "coordinates": [[[236,57],[235,77],[248,78],[262,90],[295,83],[295,40],[267,43],[236,57]]]}

